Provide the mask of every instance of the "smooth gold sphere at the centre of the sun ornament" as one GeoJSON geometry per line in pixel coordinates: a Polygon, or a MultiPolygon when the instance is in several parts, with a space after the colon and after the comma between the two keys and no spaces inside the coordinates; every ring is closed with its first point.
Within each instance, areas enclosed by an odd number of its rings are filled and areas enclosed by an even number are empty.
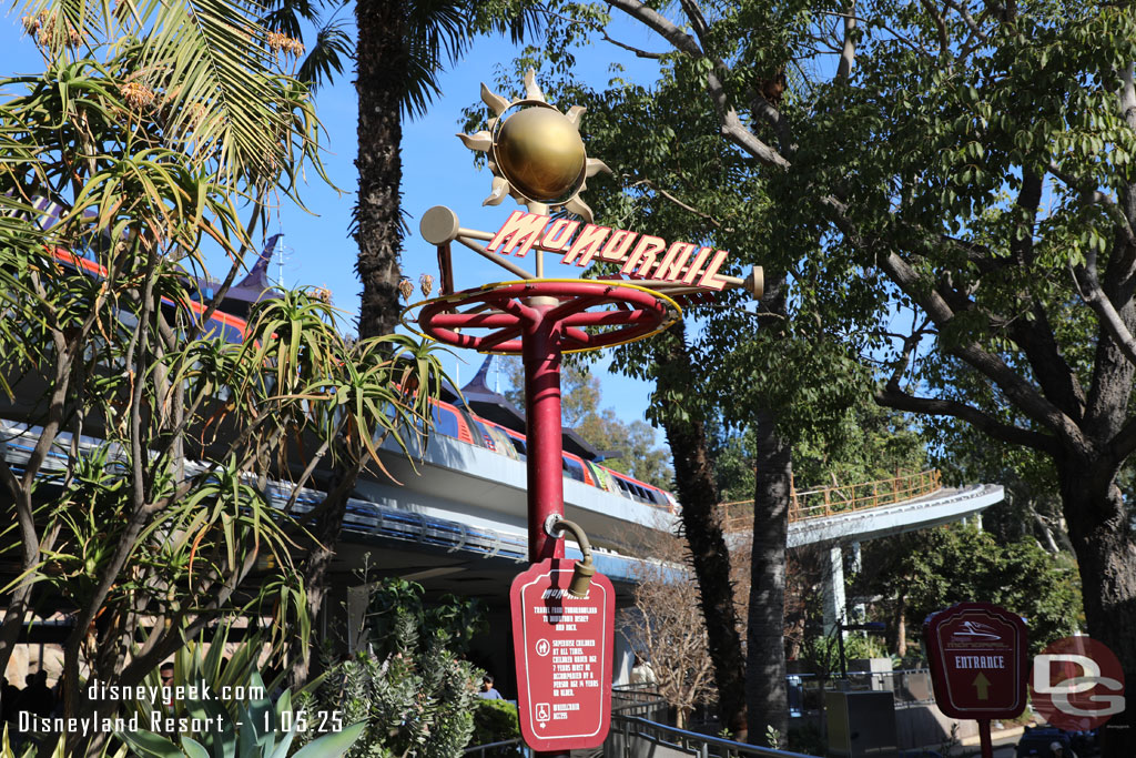
{"type": "Polygon", "coordinates": [[[529,106],[499,123],[493,159],[515,190],[536,202],[562,202],[575,194],[584,183],[587,152],[567,116],[529,106]]]}

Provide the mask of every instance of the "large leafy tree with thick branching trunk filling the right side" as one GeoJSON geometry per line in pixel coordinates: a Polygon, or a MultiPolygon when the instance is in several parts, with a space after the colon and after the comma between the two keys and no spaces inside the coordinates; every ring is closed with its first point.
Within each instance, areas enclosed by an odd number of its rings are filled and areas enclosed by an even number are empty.
{"type": "MultiPolygon", "coordinates": [[[[751,169],[715,176],[750,202],[761,255],[788,264],[793,302],[874,370],[876,399],[1047,461],[1088,631],[1136,674],[1118,483],[1136,448],[1130,9],[611,6],[696,88],[671,100],[709,122],[680,151],[704,135],[751,169]]],[[[1136,709],[1113,722],[1105,755],[1133,755],[1136,709]]]]}

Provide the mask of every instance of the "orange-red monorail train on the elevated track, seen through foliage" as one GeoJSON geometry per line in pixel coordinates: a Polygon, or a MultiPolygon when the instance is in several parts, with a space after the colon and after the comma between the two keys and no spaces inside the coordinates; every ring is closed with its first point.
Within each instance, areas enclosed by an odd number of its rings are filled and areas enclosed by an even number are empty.
{"type": "MultiPolygon", "coordinates": [[[[206,333],[214,334],[227,342],[241,342],[245,339],[248,323],[242,316],[248,315],[249,308],[253,303],[274,297],[275,289],[268,282],[267,269],[279,236],[274,235],[267,240],[249,275],[229,288],[222,301],[222,307],[210,315],[206,333]],[[233,311],[239,311],[241,315],[235,315],[233,311]]],[[[90,276],[105,277],[107,275],[106,268],[82,255],[57,248],[55,257],[65,267],[90,276]]],[[[186,274],[186,277],[195,281],[197,289],[202,292],[202,297],[211,297],[219,286],[217,282],[211,280],[194,277],[190,274],[186,274]]],[[[165,302],[167,306],[174,306],[170,301],[165,302]]],[[[183,305],[198,316],[203,316],[207,313],[207,307],[200,302],[190,301],[183,305]]],[[[463,388],[461,394],[451,388],[443,389],[448,400],[433,401],[433,431],[436,434],[485,448],[515,460],[525,460],[526,438],[519,431],[524,428],[524,417],[502,395],[485,386],[484,378],[487,367],[488,361],[482,366],[474,381],[463,388]],[[483,403],[488,402],[491,406],[506,409],[501,418],[504,423],[493,422],[477,415],[468,405],[461,402],[460,398],[462,397],[479,398],[483,403]]],[[[565,450],[563,452],[565,478],[571,478],[669,513],[677,510],[678,503],[670,492],[603,466],[599,460],[598,451],[594,451],[586,442],[568,430],[565,431],[565,440],[577,451],[565,450]]]]}

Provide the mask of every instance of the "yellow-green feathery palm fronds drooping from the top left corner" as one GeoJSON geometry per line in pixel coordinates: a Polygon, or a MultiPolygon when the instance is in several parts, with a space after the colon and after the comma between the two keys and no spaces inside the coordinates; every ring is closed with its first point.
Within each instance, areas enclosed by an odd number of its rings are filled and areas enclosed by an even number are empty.
{"type": "Polygon", "coordinates": [[[253,199],[282,167],[299,167],[293,158],[312,160],[323,174],[310,102],[276,73],[279,50],[259,24],[256,3],[145,0],[109,14],[94,0],[18,5],[25,31],[47,60],[74,61],[103,45],[139,40],[124,95],[166,119],[167,147],[244,182],[253,199]],[[285,138],[296,132],[299,140],[285,138]]]}

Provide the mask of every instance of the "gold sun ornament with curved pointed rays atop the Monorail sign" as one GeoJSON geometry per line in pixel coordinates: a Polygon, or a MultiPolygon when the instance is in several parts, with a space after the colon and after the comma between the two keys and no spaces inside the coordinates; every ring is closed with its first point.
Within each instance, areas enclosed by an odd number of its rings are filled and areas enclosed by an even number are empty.
{"type": "Polygon", "coordinates": [[[533,69],[525,73],[524,98],[509,101],[482,84],[482,101],[494,114],[487,128],[458,134],[467,148],[488,155],[493,182],[482,205],[498,206],[511,197],[529,210],[562,208],[591,224],[592,209],[579,194],[588,178],[611,169],[587,157],[579,136],[584,107],[563,114],[549,105],[533,69]]]}

